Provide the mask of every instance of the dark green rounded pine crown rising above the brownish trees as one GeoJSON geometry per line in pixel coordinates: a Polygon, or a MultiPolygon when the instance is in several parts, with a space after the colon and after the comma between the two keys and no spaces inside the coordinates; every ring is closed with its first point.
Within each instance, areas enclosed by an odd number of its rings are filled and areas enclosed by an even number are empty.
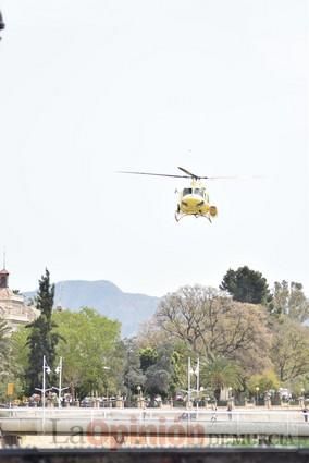
{"type": "Polygon", "coordinates": [[[227,291],[234,301],[250,304],[264,304],[270,296],[267,279],[259,271],[244,266],[235,270],[227,270],[220,289],[227,291]]]}

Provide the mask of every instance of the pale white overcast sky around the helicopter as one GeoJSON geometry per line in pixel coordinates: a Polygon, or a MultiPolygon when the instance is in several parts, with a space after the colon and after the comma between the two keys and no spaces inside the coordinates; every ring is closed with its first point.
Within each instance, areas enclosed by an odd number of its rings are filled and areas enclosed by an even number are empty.
{"type": "MultiPolygon", "coordinates": [[[[161,296],[247,265],[309,296],[306,0],[0,0],[10,287],[161,296]],[[219,216],[174,220],[182,166],[219,216]]],[[[2,251],[2,252],[3,252],[2,251]]]]}

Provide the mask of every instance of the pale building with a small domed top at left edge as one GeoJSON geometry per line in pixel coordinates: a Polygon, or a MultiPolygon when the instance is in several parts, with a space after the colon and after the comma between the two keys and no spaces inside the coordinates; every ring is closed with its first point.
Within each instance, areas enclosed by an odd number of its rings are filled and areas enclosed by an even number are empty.
{"type": "Polygon", "coordinates": [[[39,316],[33,305],[26,305],[22,294],[16,294],[9,288],[9,271],[0,271],[0,318],[4,319],[12,331],[21,325],[27,325],[39,316]]]}

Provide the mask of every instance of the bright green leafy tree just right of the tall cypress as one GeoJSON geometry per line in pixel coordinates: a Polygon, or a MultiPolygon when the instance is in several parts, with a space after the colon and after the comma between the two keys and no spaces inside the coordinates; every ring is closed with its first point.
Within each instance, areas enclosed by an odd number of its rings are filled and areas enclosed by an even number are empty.
{"type": "Polygon", "coordinates": [[[123,349],[120,324],[83,307],[52,316],[61,337],[57,354],[63,357],[63,383],[79,398],[116,393],[122,386],[123,349]]]}

